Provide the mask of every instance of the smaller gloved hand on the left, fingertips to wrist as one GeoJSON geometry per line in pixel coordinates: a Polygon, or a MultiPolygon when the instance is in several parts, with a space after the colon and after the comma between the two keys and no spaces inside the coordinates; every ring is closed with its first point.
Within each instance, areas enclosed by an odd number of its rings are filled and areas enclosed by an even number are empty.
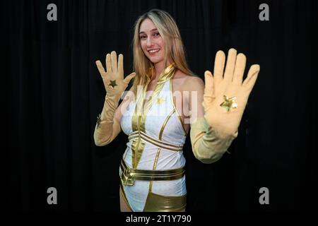
{"type": "Polygon", "coordinates": [[[100,71],[100,76],[102,76],[102,81],[105,85],[107,96],[116,97],[118,101],[124,90],[126,90],[131,78],[136,76],[136,73],[133,72],[124,78],[123,61],[123,55],[119,54],[117,65],[117,54],[114,51],[111,52],[111,54],[106,55],[106,71],[102,66],[102,63],[99,60],[96,61],[98,71],[100,71]]]}

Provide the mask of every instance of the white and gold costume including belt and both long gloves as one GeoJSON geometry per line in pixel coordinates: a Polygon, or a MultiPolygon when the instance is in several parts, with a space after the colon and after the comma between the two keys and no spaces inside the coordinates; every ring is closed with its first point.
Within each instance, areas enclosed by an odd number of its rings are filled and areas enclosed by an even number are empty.
{"type": "MultiPolygon", "coordinates": [[[[260,69],[257,64],[252,65],[242,82],[244,54],[237,55],[235,49],[230,49],[228,56],[224,76],[225,54],[222,51],[216,54],[216,81],[206,71],[202,102],[204,117],[198,117],[191,126],[192,151],[204,163],[219,160],[237,137],[242,114],[260,69]],[[234,74],[234,69],[240,70],[234,74]]],[[[153,95],[144,107],[147,85],[141,93],[137,92],[136,101],[129,103],[120,122],[114,120],[114,112],[135,73],[124,78],[120,55],[119,63],[117,68],[116,52],[112,52],[111,56],[107,54],[107,72],[101,62],[96,61],[107,95],[95,126],[95,145],[112,142],[120,128],[129,136],[119,177],[121,192],[131,210],[183,210],[187,203],[187,190],[182,147],[187,132],[172,99],[175,63],[160,74],[153,95]]]]}

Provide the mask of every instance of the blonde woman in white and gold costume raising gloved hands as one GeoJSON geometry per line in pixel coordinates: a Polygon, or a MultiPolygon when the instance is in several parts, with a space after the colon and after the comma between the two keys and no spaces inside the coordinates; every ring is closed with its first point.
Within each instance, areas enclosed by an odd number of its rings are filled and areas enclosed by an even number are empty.
{"type": "Polygon", "coordinates": [[[189,132],[192,150],[201,162],[216,162],[228,150],[259,66],[245,81],[245,55],[235,49],[217,52],[214,76],[206,84],[189,70],[173,18],[152,10],[136,21],[134,71],[124,78],[123,56],[106,56],[107,71],[96,61],[107,95],[94,139],[107,145],[123,130],[129,142],[119,167],[122,211],[184,211],[187,189],[182,147],[189,132]],[[224,73],[223,73],[224,71],[224,73]],[[119,99],[131,78],[134,83],[119,99]],[[189,94],[189,95],[187,95],[189,94]]]}

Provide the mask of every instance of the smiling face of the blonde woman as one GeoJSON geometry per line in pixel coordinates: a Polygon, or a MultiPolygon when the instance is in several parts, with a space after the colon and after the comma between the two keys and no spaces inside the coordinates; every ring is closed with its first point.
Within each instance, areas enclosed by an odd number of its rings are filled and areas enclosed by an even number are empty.
{"type": "Polygon", "coordinates": [[[165,58],[165,44],[152,20],[146,18],[139,28],[141,49],[153,64],[163,62],[165,58]]]}

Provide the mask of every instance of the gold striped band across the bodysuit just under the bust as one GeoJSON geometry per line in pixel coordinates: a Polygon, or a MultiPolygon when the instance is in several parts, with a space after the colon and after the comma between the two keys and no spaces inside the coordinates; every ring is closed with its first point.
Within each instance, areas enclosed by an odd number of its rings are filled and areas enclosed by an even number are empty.
{"type": "Polygon", "coordinates": [[[175,150],[175,151],[181,151],[183,148],[183,145],[175,145],[172,143],[165,143],[163,141],[159,141],[155,138],[152,138],[151,136],[148,136],[146,133],[143,133],[143,131],[134,131],[129,134],[129,141],[134,140],[136,138],[141,138],[141,140],[146,141],[147,143],[151,143],[155,145],[158,148],[164,148],[167,150],[175,150]]]}

